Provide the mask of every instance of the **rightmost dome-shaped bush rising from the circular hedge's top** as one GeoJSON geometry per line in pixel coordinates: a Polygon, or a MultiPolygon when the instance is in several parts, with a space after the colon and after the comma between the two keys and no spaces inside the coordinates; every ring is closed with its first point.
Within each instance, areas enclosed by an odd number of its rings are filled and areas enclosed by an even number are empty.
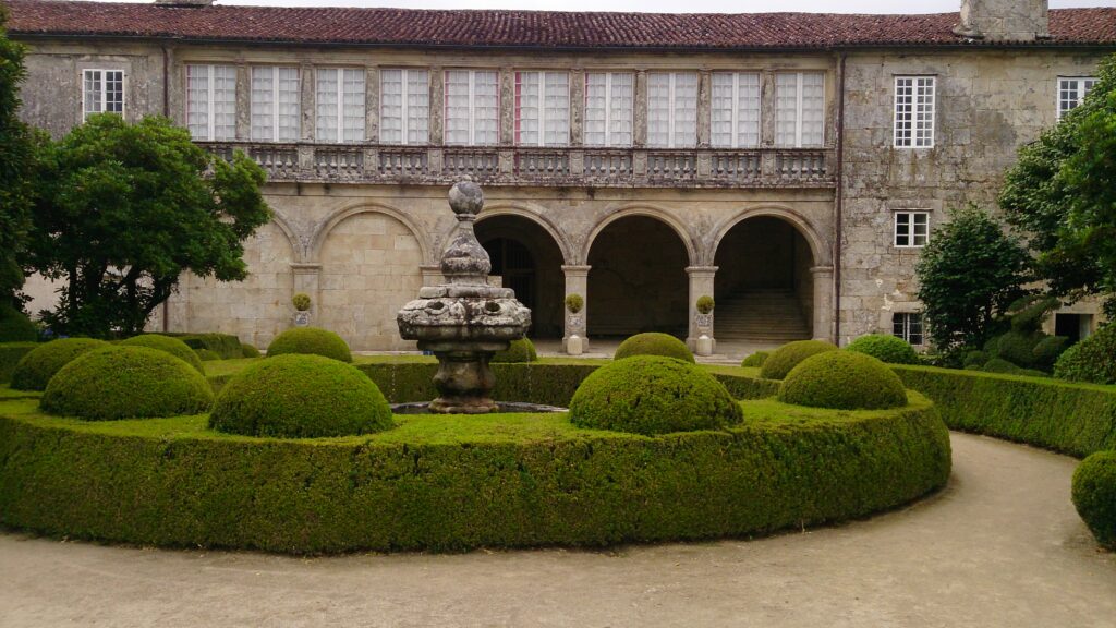
{"type": "Polygon", "coordinates": [[[811,408],[878,410],[906,406],[903,381],[864,353],[826,351],[802,360],[779,387],[779,401],[811,408]]]}

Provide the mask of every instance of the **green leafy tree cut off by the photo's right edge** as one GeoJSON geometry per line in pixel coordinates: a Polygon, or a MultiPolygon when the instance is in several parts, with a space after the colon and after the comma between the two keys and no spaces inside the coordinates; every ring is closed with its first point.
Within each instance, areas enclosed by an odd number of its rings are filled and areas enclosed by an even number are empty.
{"type": "Polygon", "coordinates": [[[1081,106],[1019,150],[1000,193],[1056,296],[1107,297],[1116,314],[1116,56],[1081,106]]]}

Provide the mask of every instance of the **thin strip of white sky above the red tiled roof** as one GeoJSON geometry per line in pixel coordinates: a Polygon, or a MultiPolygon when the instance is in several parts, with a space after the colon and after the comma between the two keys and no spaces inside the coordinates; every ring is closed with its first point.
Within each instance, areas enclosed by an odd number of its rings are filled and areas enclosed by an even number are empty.
{"type": "MultiPolygon", "coordinates": [[[[110,0],[127,1],[127,0],[110,0]]],[[[135,1],[135,0],[131,0],[135,1]]],[[[412,9],[535,9],[556,11],[648,11],[750,13],[810,11],[835,13],[943,13],[961,0],[217,0],[219,4],[298,7],[406,7],[412,9]]],[[[1017,0],[1018,1],[1018,0],[1017,0]]],[[[1050,0],[1050,8],[1116,7],[1116,0],[1050,0]]]]}

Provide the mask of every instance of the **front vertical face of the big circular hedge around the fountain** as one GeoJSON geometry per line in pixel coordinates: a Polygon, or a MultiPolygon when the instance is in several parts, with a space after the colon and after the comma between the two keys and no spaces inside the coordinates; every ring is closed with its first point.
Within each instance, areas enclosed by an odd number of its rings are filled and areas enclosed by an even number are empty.
{"type": "Polygon", "coordinates": [[[286,553],[768,534],[943,486],[949,432],[915,401],[818,421],[519,445],[166,439],[0,417],[0,524],[286,553]]]}

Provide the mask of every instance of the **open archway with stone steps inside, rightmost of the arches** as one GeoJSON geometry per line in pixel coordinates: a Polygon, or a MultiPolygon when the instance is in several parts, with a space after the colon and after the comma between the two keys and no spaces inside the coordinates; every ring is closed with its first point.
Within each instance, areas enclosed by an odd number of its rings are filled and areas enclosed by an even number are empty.
{"type": "Polygon", "coordinates": [[[721,239],[714,264],[719,342],[812,337],[814,254],[795,225],[772,216],[742,220],[721,239]]]}

